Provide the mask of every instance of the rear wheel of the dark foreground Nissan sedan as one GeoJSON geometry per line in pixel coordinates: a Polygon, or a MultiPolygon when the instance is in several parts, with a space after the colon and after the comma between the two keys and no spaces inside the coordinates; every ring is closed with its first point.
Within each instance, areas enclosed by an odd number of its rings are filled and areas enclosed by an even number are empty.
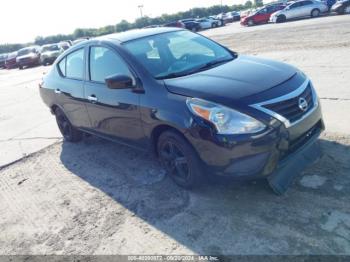
{"type": "Polygon", "coordinates": [[[56,123],[65,141],[75,143],[83,138],[83,133],[72,126],[60,108],[55,110],[55,116],[56,123]]]}

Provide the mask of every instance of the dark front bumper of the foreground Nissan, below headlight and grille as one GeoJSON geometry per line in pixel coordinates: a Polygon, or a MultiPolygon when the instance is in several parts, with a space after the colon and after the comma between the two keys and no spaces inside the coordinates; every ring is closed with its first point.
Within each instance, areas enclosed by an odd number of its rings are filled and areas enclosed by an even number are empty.
{"type": "MultiPolygon", "coordinates": [[[[187,134],[210,174],[234,179],[267,178],[303,154],[324,130],[321,108],[289,128],[275,121],[259,135],[223,136],[209,129],[194,128],[187,134]]],[[[284,168],[286,169],[286,168],[284,168]]],[[[288,168],[287,168],[288,169],[288,168]]]]}

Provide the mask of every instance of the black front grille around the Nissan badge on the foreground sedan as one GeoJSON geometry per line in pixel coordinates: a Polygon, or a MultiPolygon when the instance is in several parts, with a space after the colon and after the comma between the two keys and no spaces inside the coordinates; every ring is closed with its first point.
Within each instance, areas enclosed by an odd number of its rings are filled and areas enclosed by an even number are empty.
{"type": "Polygon", "coordinates": [[[276,103],[266,104],[263,105],[263,107],[283,116],[284,118],[288,119],[290,123],[299,120],[304,114],[308,113],[314,107],[310,82],[300,95],[276,103]],[[308,108],[305,111],[301,110],[299,107],[300,98],[304,98],[308,104],[308,108]]]}

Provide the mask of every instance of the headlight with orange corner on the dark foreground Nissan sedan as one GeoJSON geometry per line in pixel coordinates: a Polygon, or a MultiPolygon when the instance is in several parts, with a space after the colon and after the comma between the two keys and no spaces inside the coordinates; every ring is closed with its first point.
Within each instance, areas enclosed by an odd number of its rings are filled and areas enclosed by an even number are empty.
{"type": "Polygon", "coordinates": [[[246,114],[212,102],[189,98],[186,103],[193,114],[212,123],[218,134],[251,134],[262,131],[266,127],[246,114]]]}

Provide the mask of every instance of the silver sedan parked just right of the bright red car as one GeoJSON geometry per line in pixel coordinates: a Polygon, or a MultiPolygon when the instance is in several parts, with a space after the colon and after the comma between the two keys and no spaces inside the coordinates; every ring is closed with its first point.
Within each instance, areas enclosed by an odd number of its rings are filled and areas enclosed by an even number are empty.
{"type": "Polygon", "coordinates": [[[328,11],[328,6],[316,0],[301,0],[289,4],[284,9],[273,13],[270,22],[283,23],[290,19],[302,17],[318,17],[328,11]]]}

